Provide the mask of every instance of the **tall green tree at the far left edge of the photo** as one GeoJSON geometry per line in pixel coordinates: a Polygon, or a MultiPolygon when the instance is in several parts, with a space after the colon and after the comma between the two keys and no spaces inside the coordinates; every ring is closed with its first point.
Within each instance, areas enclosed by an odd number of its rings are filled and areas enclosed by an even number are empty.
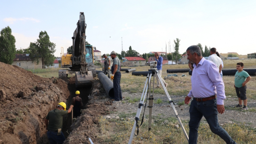
{"type": "Polygon", "coordinates": [[[15,37],[12,35],[12,29],[7,26],[0,32],[0,61],[12,64],[15,58],[15,37]]]}

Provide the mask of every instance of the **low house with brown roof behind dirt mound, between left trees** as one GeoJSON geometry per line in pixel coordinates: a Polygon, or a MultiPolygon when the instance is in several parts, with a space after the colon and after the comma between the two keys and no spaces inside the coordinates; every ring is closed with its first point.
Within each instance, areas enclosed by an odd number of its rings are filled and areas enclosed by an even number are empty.
{"type": "Polygon", "coordinates": [[[23,69],[42,69],[42,59],[37,64],[36,61],[32,61],[29,54],[15,54],[12,65],[18,66],[23,69]]]}

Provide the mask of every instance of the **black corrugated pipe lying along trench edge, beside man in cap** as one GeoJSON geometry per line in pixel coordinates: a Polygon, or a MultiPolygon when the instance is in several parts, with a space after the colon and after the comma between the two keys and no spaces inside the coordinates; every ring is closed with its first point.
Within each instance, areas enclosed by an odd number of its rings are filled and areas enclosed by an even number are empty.
{"type": "Polygon", "coordinates": [[[113,82],[109,80],[109,78],[104,74],[104,73],[98,73],[98,78],[100,82],[103,85],[103,88],[105,89],[107,95],[111,98],[114,99],[114,88],[113,88],[113,82]]]}

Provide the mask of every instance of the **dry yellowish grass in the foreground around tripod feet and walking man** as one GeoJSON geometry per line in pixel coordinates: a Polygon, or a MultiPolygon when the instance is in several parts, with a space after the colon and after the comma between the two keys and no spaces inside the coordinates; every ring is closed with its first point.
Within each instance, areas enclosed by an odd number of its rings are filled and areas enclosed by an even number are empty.
{"type": "MultiPolygon", "coordinates": [[[[152,123],[151,131],[148,132],[148,120],[144,121],[140,127],[139,135],[134,136],[133,144],[187,144],[187,139],[181,128],[176,128],[178,124],[176,118],[156,119],[152,123]]],[[[124,119],[105,119],[100,118],[101,134],[98,137],[99,143],[104,144],[126,144],[129,141],[130,132],[134,124],[134,120],[124,119]],[[114,129],[113,129],[114,128],[114,129]]],[[[184,127],[189,132],[188,122],[183,121],[184,127]]],[[[240,144],[256,144],[256,131],[245,127],[243,124],[225,124],[222,126],[229,135],[240,144]]],[[[201,123],[198,130],[199,144],[217,144],[225,143],[219,136],[211,132],[209,125],[201,123]]]]}

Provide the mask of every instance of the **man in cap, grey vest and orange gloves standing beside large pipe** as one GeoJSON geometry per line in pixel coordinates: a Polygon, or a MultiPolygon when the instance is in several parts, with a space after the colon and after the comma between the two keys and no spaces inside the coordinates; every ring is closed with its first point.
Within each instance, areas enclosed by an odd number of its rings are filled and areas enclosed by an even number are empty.
{"type": "Polygon", "coordinates": [[[118,59],[118,57],[116,56],[116,52],[114,51],[110,53],[110,56],[113,60],[113,65],[111,67],[112,76],[110,78],[113,80],[113,88],[114,88],[114,96],[115,96],[115,101],[113,101],[112,103],[119,103],[121,102],[120,100],[123,100],[122,91],[120,87],[121,61],[118,59]]]}

